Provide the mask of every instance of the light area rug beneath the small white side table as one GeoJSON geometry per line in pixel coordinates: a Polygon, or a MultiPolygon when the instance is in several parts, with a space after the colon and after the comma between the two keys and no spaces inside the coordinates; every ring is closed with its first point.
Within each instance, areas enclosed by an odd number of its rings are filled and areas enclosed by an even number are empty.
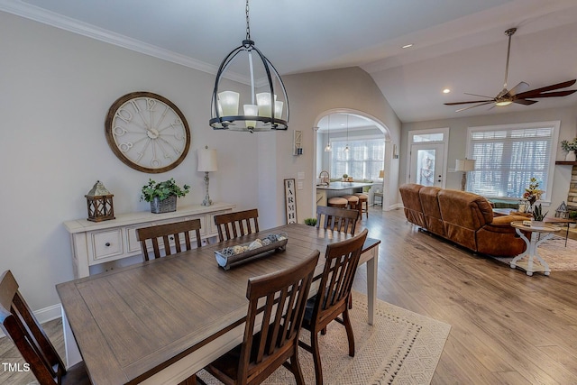
{"type": "MultiPolygon", "coordinates": [[[[547,262],[551,271],[577,270],[577,241],[575,240],[568,239],[565,246],[565,238],[555,236],[541,243],[537,252],[547,262]]],[[[495,259],[506,264],[513,261],[513,258],[506,257],[495,257],[495,259]]],[[[540,265],[536,259],[533,261],[540,265]]]]}

